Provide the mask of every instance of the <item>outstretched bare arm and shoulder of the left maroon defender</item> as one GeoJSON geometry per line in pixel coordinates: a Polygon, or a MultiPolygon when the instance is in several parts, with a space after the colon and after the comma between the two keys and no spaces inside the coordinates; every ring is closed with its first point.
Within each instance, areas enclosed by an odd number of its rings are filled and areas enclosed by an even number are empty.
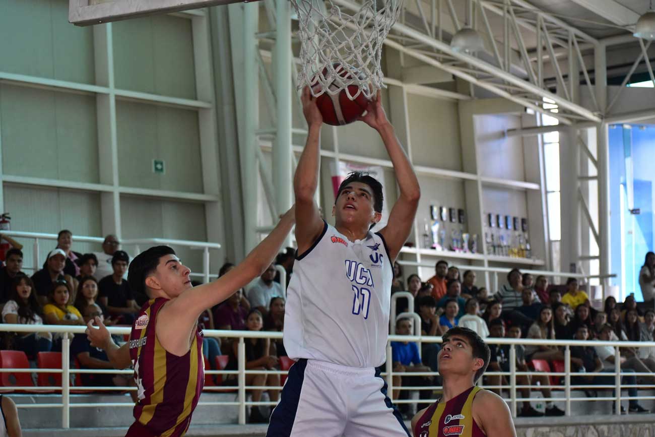
{"type": "MultiPolygon", "coordinates": [[[[271,233],[234,269],[214,282],[183,292],[162,307],[157,316],[157,337],[166,351],[178,356],[189,351],[189,338],[198,316],[246,286],[271,265],[293,227],[294,217],[294,208],[291,208],[271,233]]],[[[149,280],[155,279],[147,278],[146,285],[149,285],[149,280]]]]}

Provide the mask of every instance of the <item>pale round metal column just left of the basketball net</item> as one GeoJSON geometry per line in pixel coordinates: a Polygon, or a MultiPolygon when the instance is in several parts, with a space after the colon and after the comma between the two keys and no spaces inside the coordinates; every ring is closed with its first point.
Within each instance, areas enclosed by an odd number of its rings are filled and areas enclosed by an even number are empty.
{"type": "MultiPolygon", "coordinates": [[[[291,208],[291,3],[276,0],[275,95],[277,136],[272,150],[278,214],[291,208]]],[[[274,217],[273,221],[277,221],[274,217]]]]}

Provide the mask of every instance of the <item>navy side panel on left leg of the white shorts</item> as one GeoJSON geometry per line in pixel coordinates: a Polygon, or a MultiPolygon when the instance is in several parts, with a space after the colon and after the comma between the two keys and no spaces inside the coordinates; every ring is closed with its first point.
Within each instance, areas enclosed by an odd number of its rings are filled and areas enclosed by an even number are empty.
{"type": "Polygon", "coordinates": [[[291,435],[305,380],[305,368],[307,368],[307,358],[301,358],[289,369],[289,376],[280,395],[280,403],[271,414],[271,423],[266,432],[267,437],[289,437],[291,435]]]}

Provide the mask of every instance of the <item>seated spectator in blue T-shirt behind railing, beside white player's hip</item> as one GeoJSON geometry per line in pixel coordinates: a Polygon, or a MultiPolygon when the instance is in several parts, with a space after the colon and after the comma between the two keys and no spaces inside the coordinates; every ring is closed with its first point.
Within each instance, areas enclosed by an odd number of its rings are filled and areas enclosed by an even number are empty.
{"type": "MultiPolygon", "coordinates": [[[[401,317],[396,320],[396,334],[397,335],[411,335],[412,324],[411,320],[406,317],[401,317]]],[[[394,372],[419,372],[430,371],[429,366],[425,366],[421,361],[419,355],[419,347],[413,341],[392,341],[392,364],[394,372]]],[[[394,399],[407,399],[409,398],[409,390],[400,390],[400,387],[417,387],[421,385],[429,385],[432,377],[429,376],[398,376],[394,375],[394,399]]],[[[430,399],[432,397],[432,390],[419,390],[420,399],[430,399]]],[[[423,409],[424,406],[419,405],[418,409],[423,409]]],[[[398,410],[403,417],[408,417],[409,404],[398,404],[398,410]]]]}

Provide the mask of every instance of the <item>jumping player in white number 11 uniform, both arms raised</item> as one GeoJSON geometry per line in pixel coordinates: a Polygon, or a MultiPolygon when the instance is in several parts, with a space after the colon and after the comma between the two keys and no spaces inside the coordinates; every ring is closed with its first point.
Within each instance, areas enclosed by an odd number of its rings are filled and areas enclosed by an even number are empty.
{"type": "Polygon", "coordinates": [[[375,368],[386,359],[393,264],[411,230],[419,181],[378,93],[360,120],[379,132],[400,196],[388,225],[371,233],[382,218],[382,186],[351,174],[337,193],[335,227],[328,225],[314,202],[322,116],[308,88],[302,100],[309,134],[293,180],[298,252],[284,316],[284,347],[297,362],[267,436],[406,437],[375,368]]]}

